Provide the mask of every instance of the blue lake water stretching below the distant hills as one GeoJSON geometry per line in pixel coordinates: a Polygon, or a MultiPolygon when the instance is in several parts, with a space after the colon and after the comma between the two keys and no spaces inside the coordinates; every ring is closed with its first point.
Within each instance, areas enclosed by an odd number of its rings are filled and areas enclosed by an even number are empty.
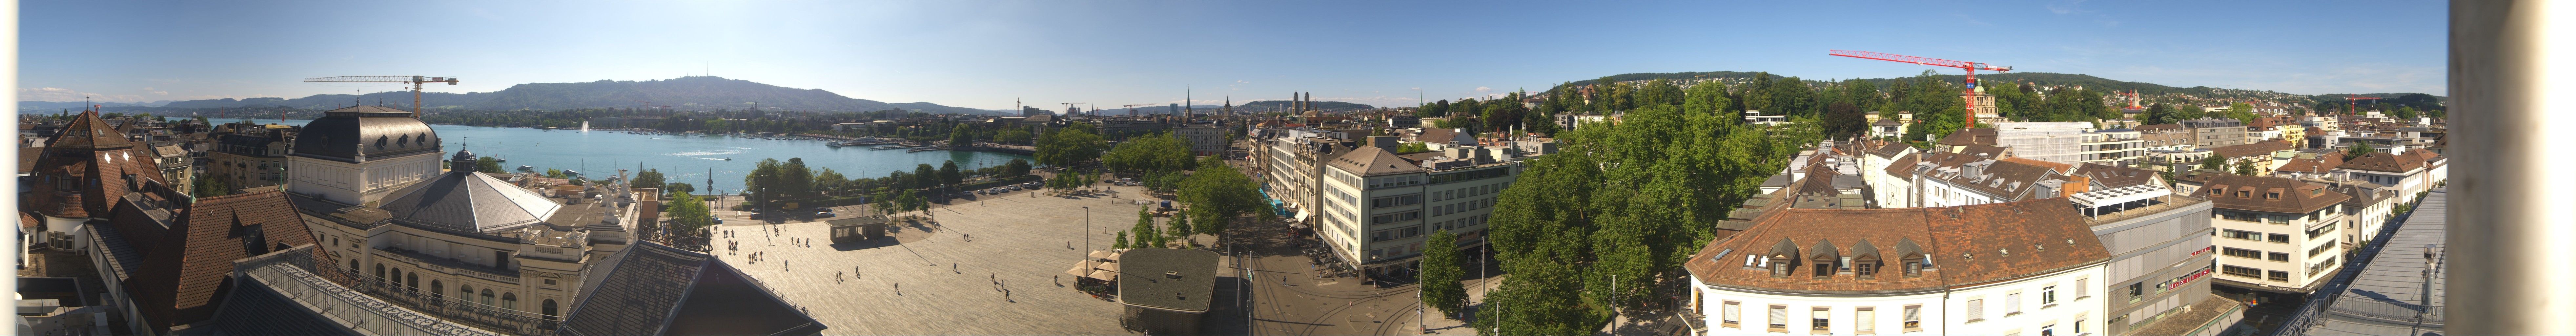
{"type": "MultiPolygon", "coordinates": [[[[216,119],[222,121],[222,119],[216,119]]],[[[260,119],[276,121],[276,119],[260,119]]],[[[309,119],[307,119],[309,121],[309,119]]],[[[299,119],[286,119],[286,124],[307,124],[299,119]]],[[[685,137],[685,134],[626,134],[626,132],[580,132],[580,129],[510,129],[510,127],[461,127],[461,124],[430,124],[438,140],[446,142],[446,155],[456,150],[474,150],[474,155],[502,158],[502,168],[518,171],[518,165],[569,168],[582,171],[592,178],[605,178],[618,173],[618,168],[634,171],[636,165],[662,171],[665,181],[680,181],[698,186],[698,194],[708,191],[742,191],[742,176],[752,171],[762,158],[804,158],[806,168],[822,173],[832,168],[850,178],[881,178],[891,171],[912,171],[920,163],[940,165],[943,160],[956,160],[958,168],[989,168],[1005,165],[1012,158],[1007,152],[963,152],[963,150],[868,150],[868,147],[829,147],[819,140],[752,140],[752,137],[685,137]],[[732,158],[732,160],[726,160],[732,158]],[[708,184],[708,171],[716,181],[708,184]]]]}

